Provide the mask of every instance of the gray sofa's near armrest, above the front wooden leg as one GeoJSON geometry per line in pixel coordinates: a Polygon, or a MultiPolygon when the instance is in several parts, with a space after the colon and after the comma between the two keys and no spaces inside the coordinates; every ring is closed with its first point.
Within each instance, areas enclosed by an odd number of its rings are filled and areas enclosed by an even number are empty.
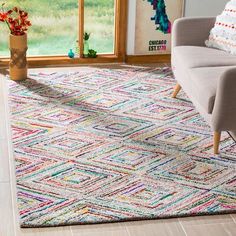
{"type": "Polygon", "coordinates": [[[215,131],[236,131],[236,67],[218,81],[212,126],[215,131]]]}

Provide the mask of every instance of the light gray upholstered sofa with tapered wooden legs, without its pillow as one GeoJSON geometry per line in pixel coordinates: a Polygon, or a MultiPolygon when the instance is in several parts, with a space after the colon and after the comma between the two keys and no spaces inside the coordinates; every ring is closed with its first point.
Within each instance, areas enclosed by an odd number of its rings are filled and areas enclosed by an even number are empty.
{"type": "Polygon", "coordinates": [[[183,89],[214,133],[214,154],[219,152],[222,131],[236,138],[236,56],[208,48],[215,18],[181,18],[172,34],[171,63],[177,85],[183,89]]]}

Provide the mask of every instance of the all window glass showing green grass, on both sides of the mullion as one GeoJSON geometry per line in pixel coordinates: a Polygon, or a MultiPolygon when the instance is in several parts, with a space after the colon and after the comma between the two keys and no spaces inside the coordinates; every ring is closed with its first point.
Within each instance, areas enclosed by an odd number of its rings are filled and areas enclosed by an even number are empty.
{"type": "MultiPolygon", "coordinates": [[[[28,11],[28,56],[67,56],[78,53],[79,4],[83,3],[83,31],[90,33],[89,46],[99,54],[114,54],[117,2],[122,0],[9,0],[6,8],[20,6],[28,11]]],[[[121,3],[120,3],[121,4],[121,3]]],[[[8,29],[0,24],[0,57],[9,57],[8,29]]]]}

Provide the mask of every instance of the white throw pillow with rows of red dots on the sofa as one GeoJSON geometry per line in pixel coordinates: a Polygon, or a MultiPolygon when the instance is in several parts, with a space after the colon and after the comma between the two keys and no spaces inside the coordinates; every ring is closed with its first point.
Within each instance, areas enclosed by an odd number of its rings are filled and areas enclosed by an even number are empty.
{"type": "Polygon", "coordinates": [[[206,46],[236,55],[236,0],[229,1],[210,32],[206,46]]]}

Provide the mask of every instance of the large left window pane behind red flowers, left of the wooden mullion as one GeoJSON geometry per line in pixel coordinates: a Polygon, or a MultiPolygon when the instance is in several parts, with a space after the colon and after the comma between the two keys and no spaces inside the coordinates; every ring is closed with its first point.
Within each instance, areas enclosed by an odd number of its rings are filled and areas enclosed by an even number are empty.
{"type": "MultiPolygon", "coordinates": [[[[4,8],[20,7],[29,13],[29,56],[67,55],[78,39],[78,0],[7,0],[4,8]]],[[[2,1],[0,1],[2,3],[2,1]]],[[[8,34],[0,22],[0,57],[9,56],[8,34]]]]}

